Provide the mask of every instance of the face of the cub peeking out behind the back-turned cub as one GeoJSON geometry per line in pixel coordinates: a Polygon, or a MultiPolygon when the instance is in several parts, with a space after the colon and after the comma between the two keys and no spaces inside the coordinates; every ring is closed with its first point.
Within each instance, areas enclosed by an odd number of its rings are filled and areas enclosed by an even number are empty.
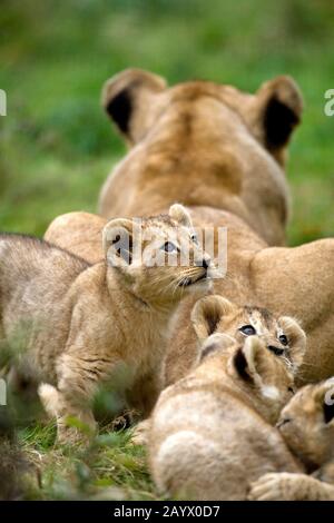
{"type": "Polygon", "coordinates": [[[275,318],[267,309],[240,307],[215,295],[195,304],[191,320],[199,343],[214,333],[227,334],[237,343],[257,335],[267,351],[281,357],[292,371],[296,371],[303,361],[306,336],[291,317],[275,318]]]}

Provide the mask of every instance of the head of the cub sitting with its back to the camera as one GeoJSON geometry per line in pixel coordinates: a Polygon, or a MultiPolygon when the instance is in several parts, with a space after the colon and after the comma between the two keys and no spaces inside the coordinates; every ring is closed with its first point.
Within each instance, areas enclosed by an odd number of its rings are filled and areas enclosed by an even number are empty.
{"type": "Polygon", "coordinates": [[[199,349],[199,366],[235,392],[246,393],[254,406],[269,423],[276,423],[283,406],[294,394],[294,375],[284,361],[267,349],[259,336],[237,343],[225,334],[213,334],[199,349]]]}

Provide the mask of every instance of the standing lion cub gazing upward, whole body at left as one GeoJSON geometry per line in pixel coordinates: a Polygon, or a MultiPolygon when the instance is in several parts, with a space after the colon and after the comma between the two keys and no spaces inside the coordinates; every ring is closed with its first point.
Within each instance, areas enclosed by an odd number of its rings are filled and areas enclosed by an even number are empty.
{"type": "Polygon", "coordinates": [[[214,270],[180,205],[140,224],[111,220],[102,240],[106,259],[90,266],[46,241],[0,236],[0,342],[20,341],[19,372],[43,384],[41,401],[65,441],[75,435],[68,416],[95,427],[90,401],[120,368],[132,405],[150,411],[169,319],[188,290],[208,289],[214,270]],[[184,245],[188,266],[178,263],[184,245]]]}

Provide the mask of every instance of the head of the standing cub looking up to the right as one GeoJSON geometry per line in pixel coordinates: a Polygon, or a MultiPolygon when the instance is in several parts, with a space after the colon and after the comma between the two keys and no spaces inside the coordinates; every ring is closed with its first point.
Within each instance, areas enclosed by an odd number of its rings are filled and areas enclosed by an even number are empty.
{"type": "Polygon", "coordinates": [[[203,250],[185,207],[168,215],[114,219],[102,234],[108,266],[148,304],[178,302],[187,292],[206,292],[216,270],[203,250]]]}

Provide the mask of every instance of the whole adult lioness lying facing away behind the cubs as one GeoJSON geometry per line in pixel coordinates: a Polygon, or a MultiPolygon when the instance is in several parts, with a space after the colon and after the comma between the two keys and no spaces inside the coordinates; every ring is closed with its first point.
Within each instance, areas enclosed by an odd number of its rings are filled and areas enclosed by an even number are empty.
{"type": "MultiPolygon", "coordinates": [[[[184,201],[191,206],[195,226],[227,227],[227,276],[215,282],[215,294],[240,305],[257,304],[276,317],[297,318],[308,341],[301,382],[334,374],[334,239],[269,247],[284,241],[285,146],[302,111],[292,80],[278,77],[252,96],[212,82],[165,89],[161,79],[129,70],[110,80],[104,92],[104,105],[118,126],[119,115],[112,112],[117,95],[132,100],[126,137],[134,147],[105,186],[102,213],[151,214],[184,201]],[[281,141],[274,137],[275,145],[268,130],[276,128],[283,135],[281,141]]],[[[98,221],[102,228],[106,220],[84,214],[72,215],[72,220],[73,227],[71,218],[65,227],[51,224],[46,237],[99,259],[102,253],[90,230],[98,221]]],[[[189,297],[179,307],[167,383],[191,367],[194,303],[189,297]]]]}

